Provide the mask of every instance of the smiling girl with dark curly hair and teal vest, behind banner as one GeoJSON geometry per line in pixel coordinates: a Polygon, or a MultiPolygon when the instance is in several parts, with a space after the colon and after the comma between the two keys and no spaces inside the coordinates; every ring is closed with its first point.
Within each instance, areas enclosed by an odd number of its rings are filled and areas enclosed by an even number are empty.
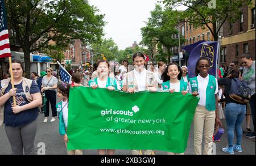
{"type": "MultiPolygon", "coordinates": [[[[169,63],[162,75],[163,91],[170,91],[170,93],[181,92],[183,95],[188,93],[187,83],[179,80],[181,78],[181,69],[177,63],[169,63]]],[[[184,153],[176,154],[174,152],[168,152],[168,155],[184,155],[184,153]]]]}

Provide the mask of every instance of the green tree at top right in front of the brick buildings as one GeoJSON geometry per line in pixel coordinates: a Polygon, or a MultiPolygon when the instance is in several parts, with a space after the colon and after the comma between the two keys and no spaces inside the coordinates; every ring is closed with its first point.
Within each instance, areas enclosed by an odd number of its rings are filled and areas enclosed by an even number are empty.
{"type": "Polygon", "coordinates": [[[251,5],[251,0],[214,0],[216,8],[209,7],[211,0],[162,0],[162,3],[168,7],[188,7],[181,15],[183,19],[195,27],[205,28],[206,26],[218,41],[218,33],[222,25],[227,21],[235,23],[241,14],[240,7],[251,5]]]}

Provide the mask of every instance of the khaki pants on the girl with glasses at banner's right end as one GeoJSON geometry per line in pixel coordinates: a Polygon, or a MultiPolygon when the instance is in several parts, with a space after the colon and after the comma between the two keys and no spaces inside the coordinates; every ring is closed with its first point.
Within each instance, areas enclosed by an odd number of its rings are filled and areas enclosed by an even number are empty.
{"type": "Polygon", "coordinates": [[[194,151],[196,155],[202,154],[202,140],[204,131],[204,155],[212,154],[213,132],[215,124],[215,111],[208,111],[205,107],[197,105],[193,120],[194,124],[194,151]]]}

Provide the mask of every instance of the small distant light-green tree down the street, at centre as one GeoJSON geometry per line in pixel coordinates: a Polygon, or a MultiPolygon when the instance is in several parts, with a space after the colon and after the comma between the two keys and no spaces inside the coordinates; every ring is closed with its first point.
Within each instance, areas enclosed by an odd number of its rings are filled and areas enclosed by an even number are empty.
{"type": "MultiPolygon", "coordinates": [[[[92,47],[93,54],[102,53],[108,61],[114,60],[118,55],[118,46],[112,38],[98,40],[90,46],[92,47]]],[[[101,54],[97,54],[92,58],[94,62],[96,62],[97,59],[102,59],[101,54]]]]}

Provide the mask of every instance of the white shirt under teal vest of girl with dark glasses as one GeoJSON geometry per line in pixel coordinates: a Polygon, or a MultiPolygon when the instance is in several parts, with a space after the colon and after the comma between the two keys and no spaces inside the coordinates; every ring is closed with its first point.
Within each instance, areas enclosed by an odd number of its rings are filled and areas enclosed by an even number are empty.
{"type": "MultiPolygon", "coordinates": [[[[218,93],[218,81],[215,78],[216,81],[216,90],[214,92],[214,94],[218,93]]],[[[197,76],[197,82],[198,82],[198,93],[199,93],[199,105],[205,106],[206,103],[206,90],[207,90],[207,86],[208,86],[208,82],[209,82],[209,74],[207,75],[207,77],[203,78],[200,76],[200,74],[197,76]]],[[[191,91],[191,82],[189,82],[189,93],[192,93],[191,91]]]]}

